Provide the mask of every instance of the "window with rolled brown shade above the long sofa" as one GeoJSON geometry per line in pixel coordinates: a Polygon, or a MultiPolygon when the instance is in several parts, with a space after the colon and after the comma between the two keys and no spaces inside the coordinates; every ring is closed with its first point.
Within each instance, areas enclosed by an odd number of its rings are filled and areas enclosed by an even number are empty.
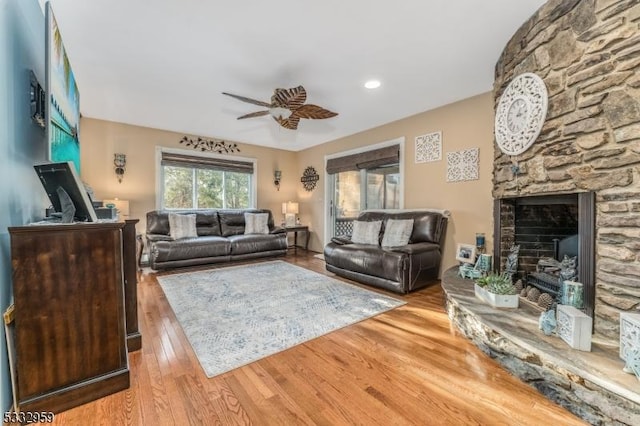
{"type": "Polygon", "coordinates": [[[255,206],[254,161],[163,150],[161,208],[244,209],[255,206]]]}

